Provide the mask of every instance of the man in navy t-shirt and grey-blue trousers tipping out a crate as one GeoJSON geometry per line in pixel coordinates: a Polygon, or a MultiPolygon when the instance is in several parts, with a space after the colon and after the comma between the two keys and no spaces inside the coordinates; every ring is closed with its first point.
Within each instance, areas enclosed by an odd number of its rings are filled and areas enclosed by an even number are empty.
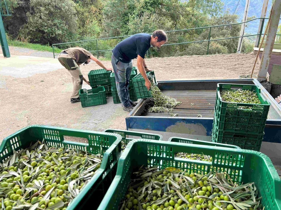
{"type": "Polygon", "coordinates": [[[146,51],[152,45],[160,48],[167,41],[167,35],[162,30],[156,30],[152,35],[141,33],[130,36],[119,42],[112,50],[111,63],[114,71],[116,88],[123,110],[130,112],[137,103],[129,98],[129,78],[132,71],[132,59],[137,58],[137,67],[145,79],[145,86],[149,90],[151,83],[145,71],[150,71],[145,64],[146,51]]]}

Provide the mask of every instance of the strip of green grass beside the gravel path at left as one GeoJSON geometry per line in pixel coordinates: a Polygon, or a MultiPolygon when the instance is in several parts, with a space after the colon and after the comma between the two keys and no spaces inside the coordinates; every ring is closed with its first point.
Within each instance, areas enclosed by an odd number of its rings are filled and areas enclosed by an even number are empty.
{"type": "MultiPolygon", "coordinates": [[[[21,41],[16,41],[16,40],[11,40],[11,39],[7,39],[7,41],[8,41],[9,46],[24,47],[24,48],[29,48],[32,50],[53,52],[52,47],[47,46],[47,45],[32,44],[32,43],[28,43],[28,42],[21,42],[21,41]]],[[[62,49],[54,48],[54,51],[55,51],[55,53],[60,53],[62,51],[62,49]]]]}

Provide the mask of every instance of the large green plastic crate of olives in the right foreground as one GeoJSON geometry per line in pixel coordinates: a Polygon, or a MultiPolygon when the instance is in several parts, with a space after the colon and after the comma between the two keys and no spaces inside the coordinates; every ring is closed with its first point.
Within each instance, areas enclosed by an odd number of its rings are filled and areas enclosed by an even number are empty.
{"type": "Polygon", "coordinates": [[[197,173],[227,171],[238,184],[255,182],[261,204],[267,210],[281,209],[281,180],[270,159],[263,153],[234,148],[164,142],[155,140],[133,140],[128,143],[119,162],[116,176],[107,190],[98,210],[118,209],[125,197],[133,171],[141,166],[176,167],[197,173]],[[204,153],[212,162],[174,157],[177,152],[204,153]],[[235,161],[233,161],[235,159],[235,161]],[[194,169],[203,167],[203,170],[194,169]],[[211,167],[213,166],[213,167],[211,167]],[[237,170],[237,171],[236,171],[237,170]]]}

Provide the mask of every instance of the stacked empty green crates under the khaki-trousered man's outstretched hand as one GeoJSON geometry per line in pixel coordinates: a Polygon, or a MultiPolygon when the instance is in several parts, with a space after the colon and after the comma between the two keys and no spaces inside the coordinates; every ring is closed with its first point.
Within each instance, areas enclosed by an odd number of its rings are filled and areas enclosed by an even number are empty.
{"type": "Polygon", "coordinates": [[[104,86],[106,96],[112,96],[111,92],[111,71],[105,69],[91,70],[88,73],[89,82],[92,88],[104,86]]]}

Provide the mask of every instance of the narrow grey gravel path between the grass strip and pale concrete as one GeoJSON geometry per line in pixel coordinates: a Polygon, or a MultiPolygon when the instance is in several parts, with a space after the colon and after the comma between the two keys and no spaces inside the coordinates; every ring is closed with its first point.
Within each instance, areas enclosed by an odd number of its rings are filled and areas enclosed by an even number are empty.
{"type": "Polygon", "coordinates": [[[9,50],[11,55],[28,55],[28,56],[49,57],[49,58],[54,57],[53,53],[48,51],[38,51],[38,50],[32,50],[23,47],[9,46],[9,50]]]}

